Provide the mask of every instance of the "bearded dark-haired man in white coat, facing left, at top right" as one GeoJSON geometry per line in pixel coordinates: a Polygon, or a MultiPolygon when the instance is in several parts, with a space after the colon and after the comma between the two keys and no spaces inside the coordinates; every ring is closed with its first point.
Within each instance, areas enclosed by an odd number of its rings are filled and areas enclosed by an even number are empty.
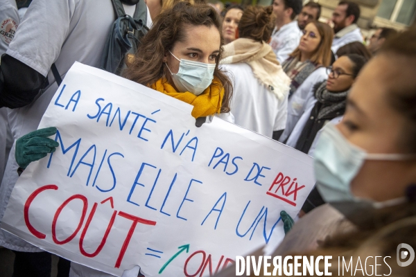
{"type": "Polygon", "coordinates": [[[333,10],[331,17],[333,33],[335,33],[332,43],[333,53],[350,42],[363,42],[361,30],[356,24],[360,13],[360,7],[352,1],[340,1],[333,10]]]}

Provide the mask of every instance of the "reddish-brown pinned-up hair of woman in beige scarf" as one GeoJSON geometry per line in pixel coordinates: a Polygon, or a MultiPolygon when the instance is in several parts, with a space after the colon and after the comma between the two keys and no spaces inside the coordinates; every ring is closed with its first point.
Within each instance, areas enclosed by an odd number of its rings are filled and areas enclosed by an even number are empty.
{"type": "Polygon", "coordinates": [[[239,23],[239,37],[268,42],[275,28],[272,6],[249,6],[245,8],[239,23]]]}

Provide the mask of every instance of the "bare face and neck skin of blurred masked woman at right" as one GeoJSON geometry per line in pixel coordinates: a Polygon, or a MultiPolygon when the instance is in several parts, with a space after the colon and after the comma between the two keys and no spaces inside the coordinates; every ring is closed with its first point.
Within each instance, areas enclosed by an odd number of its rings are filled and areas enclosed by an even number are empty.
{"type": "MultiPolygon", "coordinates": [[[[401,68],[406,60],[395,59],[381,55],[370,60],[349,93],[345,116],[337,125],[350,143],[368,153],[403,153],[406,149],[401,143],[406,119],[390,107],[388,91],[412,80],[414,71],[401,68]]],[[[416,183],[416,161],[366,160],[351,189],[357,197],[381,202],[403,196],[412,183],[416,183]]]]}

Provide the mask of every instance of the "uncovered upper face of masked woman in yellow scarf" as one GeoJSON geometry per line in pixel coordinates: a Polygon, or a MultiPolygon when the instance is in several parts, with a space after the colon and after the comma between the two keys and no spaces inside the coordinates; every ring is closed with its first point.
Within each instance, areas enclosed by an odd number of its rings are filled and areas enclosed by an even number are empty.
{"type": "MultiPolygon", "coordinates": [[[[215,26],[207,27],[204,25],[184,27],[185,37],[182,42],[175,42],[171,52],[177,59],[204,62],[205,64],[215,64],[220,53],[220,32],[215,26]]],[[[176,60],[169,51],[164,55],[163,62],[166,62],[172,73],[179,71],[180,61],[176,60]]],[[[168,75],[170,79],[170,75],[168,75]]],[[[169,80],[171,81],[171,80],[169,80]]],[[[173,82],[170,82],[173,84],[173,82]]]]}

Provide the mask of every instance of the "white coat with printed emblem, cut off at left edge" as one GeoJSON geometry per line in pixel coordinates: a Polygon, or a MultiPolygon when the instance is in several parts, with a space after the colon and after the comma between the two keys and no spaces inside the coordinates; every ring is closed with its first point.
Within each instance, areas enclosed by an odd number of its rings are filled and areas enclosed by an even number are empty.
{"type": "MultiPolygon", "coordinates": [[[[0,30],[4,33],[0,34],[0,56],[6,53],[11,37],[8,35],[15,32],[19,26],[19,14],[15,0],[0,0],[0,30]],[[7,22],[3,26],[3,22],[7,22]],[[12,30],[12,32],[10,32],[12,30]]],[[[7,108],[0,109],[0,183],[3,179],[3,173],[6,168],[8,154],[13,144],[12,132],[8,124],[7,108]]]]}

